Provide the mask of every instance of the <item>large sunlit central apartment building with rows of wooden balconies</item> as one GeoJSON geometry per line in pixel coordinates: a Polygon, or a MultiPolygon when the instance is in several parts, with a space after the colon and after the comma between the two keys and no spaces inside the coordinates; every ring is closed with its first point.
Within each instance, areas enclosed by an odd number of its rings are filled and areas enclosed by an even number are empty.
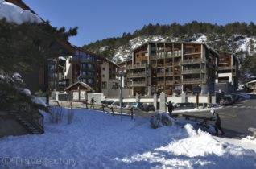
{"type": "Polygon", "coordinates": [[[119,64],[126,72],[130,95],[151,96],[192,93],[214,93],[218,53],[205,43],[148,42],[132,52],[132,59],[119,64]]]}

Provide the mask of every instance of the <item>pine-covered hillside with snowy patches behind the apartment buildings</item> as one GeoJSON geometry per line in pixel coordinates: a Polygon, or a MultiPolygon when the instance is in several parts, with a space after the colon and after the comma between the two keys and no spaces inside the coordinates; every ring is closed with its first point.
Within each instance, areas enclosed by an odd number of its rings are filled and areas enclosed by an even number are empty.
{"type": "Polygon", "coordinates": [[[242,62],[242,71],[256,75],[256,25],[254,23],[171,23],[170,25],[149,24],[133,33],[123,33],[120,37],[101,39],[85,45],[84,48],[121,62],[130,56],[134,47],[147,41],[204,42],[227,52],[235,52],[242,62]],[[252,57],[249,57],[252,56],[252,57]]]}

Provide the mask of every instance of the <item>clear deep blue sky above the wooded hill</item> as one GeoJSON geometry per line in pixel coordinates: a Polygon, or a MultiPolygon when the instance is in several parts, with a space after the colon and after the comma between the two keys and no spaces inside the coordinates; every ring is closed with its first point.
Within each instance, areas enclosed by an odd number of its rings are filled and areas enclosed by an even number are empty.
{"type": "Polygon", "coordinates": [[[148,23],[256,22],[255,0],[23,0],[55,27],[79,27],[77,46],[133,32],[148,23]]]}

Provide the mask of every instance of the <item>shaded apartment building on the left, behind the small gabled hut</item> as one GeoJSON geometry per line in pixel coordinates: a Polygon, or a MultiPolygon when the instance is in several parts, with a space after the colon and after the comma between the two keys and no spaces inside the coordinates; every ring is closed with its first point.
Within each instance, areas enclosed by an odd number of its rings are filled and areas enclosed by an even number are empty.
{"type": "Polygon", "coordinates": [[[102,56],[74,47],[71,56],[59,56],[48,61],[48,89],[63,91],[81,80],[94,92],[107,94],[118,84],[118,65],[102,56]]]}

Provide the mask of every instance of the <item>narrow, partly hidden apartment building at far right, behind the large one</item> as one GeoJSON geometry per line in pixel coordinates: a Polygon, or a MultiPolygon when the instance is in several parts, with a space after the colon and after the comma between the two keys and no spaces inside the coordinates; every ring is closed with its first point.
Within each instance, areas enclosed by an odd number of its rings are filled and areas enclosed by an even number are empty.
{"type": "Polygon", "coordinates": [[[239,60],[230,52],[219,53],[218,76],[216,79],[217,89],[225,93],[236,92],[238,87],[239,60]]]}

